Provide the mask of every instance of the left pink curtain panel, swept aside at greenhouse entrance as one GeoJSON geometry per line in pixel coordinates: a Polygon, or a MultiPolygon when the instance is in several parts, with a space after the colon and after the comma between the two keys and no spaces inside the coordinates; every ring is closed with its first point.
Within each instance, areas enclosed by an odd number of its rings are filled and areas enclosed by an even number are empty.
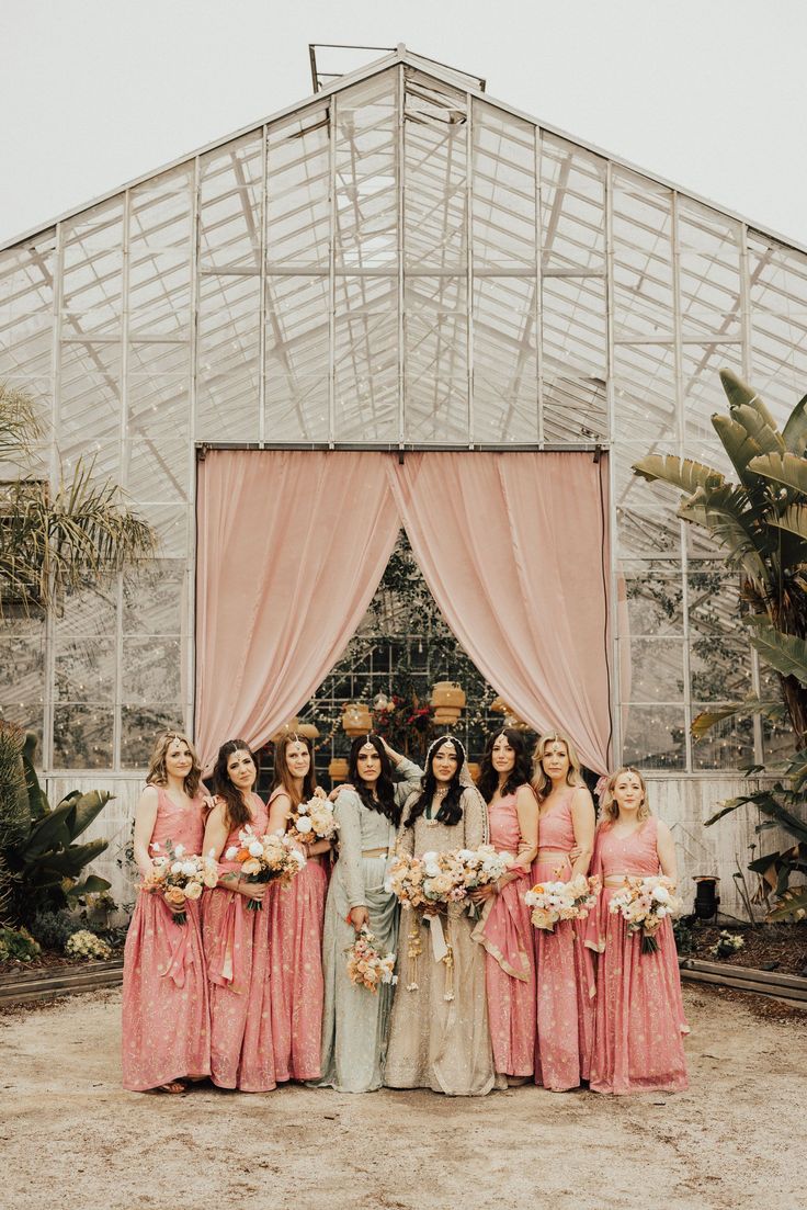
{"type": "Polygon", "coordinates": [[[373,598],[400,525],[381,455],[212,450],[198,468],[196,743],[259,747],[373,598]]]}

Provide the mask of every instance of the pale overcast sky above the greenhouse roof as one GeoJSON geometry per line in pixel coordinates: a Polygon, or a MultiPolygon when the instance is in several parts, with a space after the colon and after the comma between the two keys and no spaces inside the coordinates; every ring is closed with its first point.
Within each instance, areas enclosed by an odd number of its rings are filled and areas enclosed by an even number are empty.
{"type": "Polygon", "coordinates": [[[805,0],[0,0],[0,243],[305,99],[309,42],[404,42],[807,246],[806,40],[805,0]]]}

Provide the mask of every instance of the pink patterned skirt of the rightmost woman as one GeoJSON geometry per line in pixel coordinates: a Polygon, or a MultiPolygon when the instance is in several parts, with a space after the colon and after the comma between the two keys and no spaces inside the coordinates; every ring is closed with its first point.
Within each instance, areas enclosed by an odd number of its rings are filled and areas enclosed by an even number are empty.
{"type": "MultiPolygon", "coordinates": [[[[618,889],[618,888],[617,888],[618,889]]],[[[598,995],[590,1087],[596,1093],[681,1091],[687,1088],[684,1013],[675,935],[669,920],[658,951],[641,952],[641,934],[628,933],[607,910],[615,892],[603,891],[598,995]]]]}

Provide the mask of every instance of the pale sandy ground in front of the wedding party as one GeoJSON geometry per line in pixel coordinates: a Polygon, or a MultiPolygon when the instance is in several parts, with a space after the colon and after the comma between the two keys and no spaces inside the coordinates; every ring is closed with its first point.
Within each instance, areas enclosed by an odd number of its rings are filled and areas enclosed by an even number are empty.
{"type": "Polygon", "coordinates": [[[0,1205],[795,1210],[807,1014],[692,985],[686,1001],[690,1091],[618,1099],[138,1095],[120,1087],[120,991],[16,1009],[0,1016],[0,1205]]]}

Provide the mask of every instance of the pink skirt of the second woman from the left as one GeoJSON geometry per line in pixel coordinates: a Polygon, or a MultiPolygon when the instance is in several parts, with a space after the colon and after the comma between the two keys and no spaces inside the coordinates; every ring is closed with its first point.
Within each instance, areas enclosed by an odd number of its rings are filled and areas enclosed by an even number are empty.
{"type": "Polygon", "coordinates": [[[269,909],[235,891],[206,891],[202,940],[211,990],[211,1078],[220,1088],[276,1087],[269,978],[269,909]]]}

